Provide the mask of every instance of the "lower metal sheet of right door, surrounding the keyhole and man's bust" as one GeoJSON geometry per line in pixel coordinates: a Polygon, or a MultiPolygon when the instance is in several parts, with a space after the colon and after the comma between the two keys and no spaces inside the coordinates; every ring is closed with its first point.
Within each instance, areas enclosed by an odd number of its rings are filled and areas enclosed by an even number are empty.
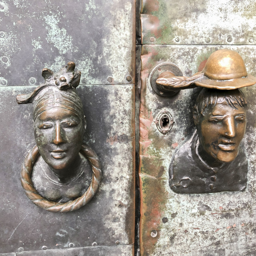
{"type": "MultiPolygon", "coordinates": [[[[224,46],[142,46],[140,105],[140,250],[142,256],[256,255],[256,86],[243,88],[248,100],[246,134],[242,141],[249,160],[244,192],[176,194],[168,184],[175,150],[195,130],[192,120],[199,88],[181,90],[172,98],[152,92],[150,72],[162,62],[177,65],[184,75],[201,70],[210,54],[224,46]],[[199,67],[199,69],[198,69],[199,67]],[[154,123],[167,109],[175,124],[166,135],[154,123]],[[156,232],[154,231],[156,230],[156,232]],[[151,234],[151,232],[153,233],[151,234]]],[[[227,46],[244,58],[256,76],[256,47],[227,46]]]]}

